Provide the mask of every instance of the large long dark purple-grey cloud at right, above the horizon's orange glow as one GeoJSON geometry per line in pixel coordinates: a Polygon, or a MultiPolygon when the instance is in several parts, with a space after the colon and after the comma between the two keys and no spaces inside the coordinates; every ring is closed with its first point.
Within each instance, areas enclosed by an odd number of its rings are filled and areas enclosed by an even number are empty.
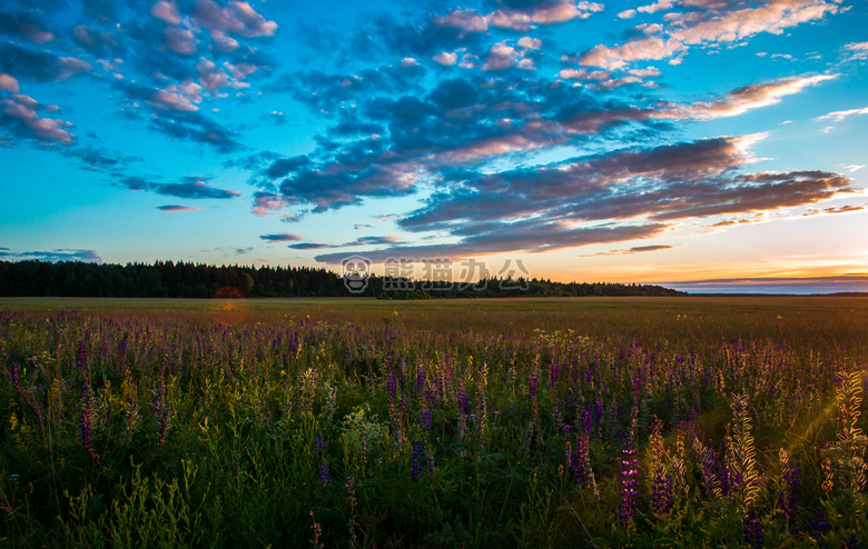
{"type": "Polygon", "coordinates": [[[398,226],[464,236],[485,223],[542,217],[552,222],[672,222],[815,203],[851,191],[821,171],[738,174],[751,137],[622,149],[500,173],[463,173],[398,226]],[[482,224],[480,224],[482,223],[482,224]]]}

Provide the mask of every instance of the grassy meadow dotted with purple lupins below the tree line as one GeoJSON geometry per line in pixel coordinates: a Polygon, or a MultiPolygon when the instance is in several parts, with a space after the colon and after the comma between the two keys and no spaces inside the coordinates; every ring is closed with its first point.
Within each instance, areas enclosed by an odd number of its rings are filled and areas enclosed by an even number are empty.
{"type": "Polygon", "coordinates": [[[868,298],[0,299],[6,547],[868,547],[868,298]]]}

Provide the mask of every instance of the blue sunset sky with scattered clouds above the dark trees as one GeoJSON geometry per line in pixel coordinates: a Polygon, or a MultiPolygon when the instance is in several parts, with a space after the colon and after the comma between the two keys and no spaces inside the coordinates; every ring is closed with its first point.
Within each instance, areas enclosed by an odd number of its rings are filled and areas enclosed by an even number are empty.
{"type": "Polygon", "coordinates": [[[3,0],[0,259],[868,291],[866,28],[865,0],[3,0]]]}

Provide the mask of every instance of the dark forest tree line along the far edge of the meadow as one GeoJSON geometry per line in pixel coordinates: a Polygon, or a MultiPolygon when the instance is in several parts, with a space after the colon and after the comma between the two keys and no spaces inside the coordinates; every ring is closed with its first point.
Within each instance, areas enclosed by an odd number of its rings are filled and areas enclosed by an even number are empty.
{"type": "Polygon", "coordinates": [[[679,296],[653,285],[554,282],[543,279],[486,278],[473,283],[426,282],[372,274],[351,292],[344,278],[312,267],[214,266],[184,261],[88,263],[0,261],[0,296],[200,298],[368,297],[432,299],[464,297],[679,296]],[[227,292],[231,288],[237,291],[227,292]]]}

